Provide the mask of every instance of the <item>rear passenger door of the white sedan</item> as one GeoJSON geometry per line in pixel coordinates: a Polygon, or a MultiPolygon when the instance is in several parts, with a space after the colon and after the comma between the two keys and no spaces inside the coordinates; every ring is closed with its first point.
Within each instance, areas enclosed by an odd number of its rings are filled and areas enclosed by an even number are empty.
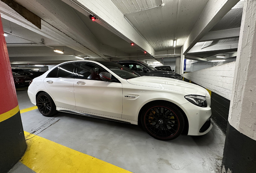
{"type": "Polygon", "coordinates": [[[54,99],[57,107],[74,109],[74,67],[75,63],[66,63],[52,70],[43,83],[54,99]]]}

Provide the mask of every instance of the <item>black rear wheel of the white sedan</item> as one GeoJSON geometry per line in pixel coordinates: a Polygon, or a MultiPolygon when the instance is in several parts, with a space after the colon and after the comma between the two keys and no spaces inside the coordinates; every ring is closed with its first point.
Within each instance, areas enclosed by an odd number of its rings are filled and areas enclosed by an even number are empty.
{"type": "Polygon", "coordinates": [[[37,108],[45,117],[51,117],[57,113],[52,97],[45,92],[39,93],[37,96],[37,108]]]}

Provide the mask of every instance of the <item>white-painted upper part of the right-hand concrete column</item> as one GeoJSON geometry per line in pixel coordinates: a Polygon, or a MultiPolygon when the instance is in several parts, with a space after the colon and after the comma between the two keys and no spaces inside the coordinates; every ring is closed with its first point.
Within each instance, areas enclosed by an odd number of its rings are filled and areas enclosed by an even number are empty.
{"type": "MultiPolygon", "coordinates": [[[[256,141],[256,1],[244,2],[229,123],[256,141]],[[231,115],[231,116],[230,116],[231,115]]],[[[255,170],[254,170],[255,171],[255,170]]]]}

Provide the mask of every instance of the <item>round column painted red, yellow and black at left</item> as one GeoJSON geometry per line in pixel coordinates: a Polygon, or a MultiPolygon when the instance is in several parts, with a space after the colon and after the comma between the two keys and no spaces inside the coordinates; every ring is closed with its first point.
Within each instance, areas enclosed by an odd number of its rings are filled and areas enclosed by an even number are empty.
{"type": "Polygon", "coordinates": [[[6,173],[27,145],[0,16],[0,173],[6,173]]]}

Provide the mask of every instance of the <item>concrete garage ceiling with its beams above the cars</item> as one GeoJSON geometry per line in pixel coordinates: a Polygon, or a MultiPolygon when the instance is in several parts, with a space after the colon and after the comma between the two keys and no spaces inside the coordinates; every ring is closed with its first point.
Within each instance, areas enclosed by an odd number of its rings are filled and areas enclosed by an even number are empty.
{"type": "Polygon", "coordinates": [[[74,55],[167,63],[184,53],[181,46],[187,46],[188,59],[231,57],[237,51],[243,7],[239,0],[15,1],[41,18],[41,29],[0,1],[12,64],[56,64],[75,60],[74,55]],[[90,14],[97,16],[96,22],[90,14]]]}

